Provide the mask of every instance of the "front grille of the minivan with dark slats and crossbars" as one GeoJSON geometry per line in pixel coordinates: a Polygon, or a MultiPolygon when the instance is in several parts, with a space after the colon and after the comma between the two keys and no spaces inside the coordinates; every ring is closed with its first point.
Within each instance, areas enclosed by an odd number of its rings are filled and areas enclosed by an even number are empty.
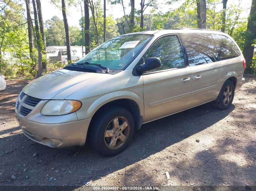
{"type": "Polygon", "coordinates": [[[23,116],[27,116],[34,107],[41,101],[41,99],[26,95],[23,91],[19,94],[16,109],[17,112],[23,116]],[[24,98],[25,97],[25,98],[24,98]],[[24,98],[24,100],[22,100],[24,98]]]}

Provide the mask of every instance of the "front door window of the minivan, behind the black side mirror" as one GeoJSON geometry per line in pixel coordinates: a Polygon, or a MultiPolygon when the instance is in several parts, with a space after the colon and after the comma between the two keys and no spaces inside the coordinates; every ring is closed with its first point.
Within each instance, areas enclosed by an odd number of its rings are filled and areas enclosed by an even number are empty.
{"type": "Polygon", "coordinates": [[[161,59],[161,67],[151,71],[185,66],[181,44],[176,35],[165,36],[156,41],[145,55],[145,61],[149,57],[161,59]]]}

